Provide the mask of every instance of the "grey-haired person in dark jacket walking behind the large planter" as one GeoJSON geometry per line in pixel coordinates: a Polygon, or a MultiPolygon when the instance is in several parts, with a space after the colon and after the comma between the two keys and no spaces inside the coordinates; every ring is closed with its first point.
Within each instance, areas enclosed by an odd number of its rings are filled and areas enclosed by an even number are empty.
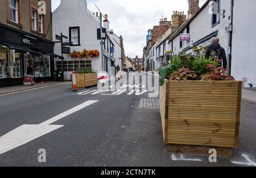
{"type": "Polygon", "coordinates": [[[219,38],[212,38],[212,44],[205,52],[205,58],[209,59],[209,57],[213,57],[214,59],[220,60],[220,64],[226,69],[227,68],[227,60],[226,60],[226,52],[225,49],[220,45],[219,38]]]}

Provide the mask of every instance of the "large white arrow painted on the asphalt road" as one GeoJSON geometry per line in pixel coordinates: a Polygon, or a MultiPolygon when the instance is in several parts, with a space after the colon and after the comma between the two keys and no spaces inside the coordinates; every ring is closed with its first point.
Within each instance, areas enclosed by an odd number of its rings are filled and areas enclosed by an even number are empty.
{"type": "Polygon", "coordinates": [[[92,105],[96,102],[98,101],[86,101],[81,105],[78,105],[76,107],[73,107],[72,109],[65,111],[64,113],[56,115],[55,117],[47,120],[46,122],[40,123],[39,125],[22,125],[17,129],[10,131],[9,133],[0,137],[0,155],[7,151],[13,150],[14,148],[22,146],[23,144],[31,142],[32,140],[39,138],[40,136],[46,135],[54,130],[60,129],[60,127],[63,127],[63,125],[50,124],[59,121],[60,119],[67,117],[68,115],[71,115],[81,109],[84,109],[85,107],[92,105]]]}

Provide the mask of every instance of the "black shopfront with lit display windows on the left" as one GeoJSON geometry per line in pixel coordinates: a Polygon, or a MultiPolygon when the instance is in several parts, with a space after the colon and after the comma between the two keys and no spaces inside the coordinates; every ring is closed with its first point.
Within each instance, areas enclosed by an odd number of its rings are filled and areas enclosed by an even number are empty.
{"type": "Polygon", "coordinates": [[[35,82],[53,80],[51,40],[0,23],[0,88],[23,85],[24,76],[35,82]]]}

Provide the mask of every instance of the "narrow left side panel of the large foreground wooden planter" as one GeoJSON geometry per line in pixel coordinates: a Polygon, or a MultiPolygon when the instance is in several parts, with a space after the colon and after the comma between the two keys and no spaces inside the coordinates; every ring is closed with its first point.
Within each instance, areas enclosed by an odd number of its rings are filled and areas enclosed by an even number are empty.
{"type": "Polygon", "coordinates": [[[168,86],[169,81],[165,80],[164,84],[159,89],[159,107],[163,127],[164,143],[168,143],[168,86]]]}

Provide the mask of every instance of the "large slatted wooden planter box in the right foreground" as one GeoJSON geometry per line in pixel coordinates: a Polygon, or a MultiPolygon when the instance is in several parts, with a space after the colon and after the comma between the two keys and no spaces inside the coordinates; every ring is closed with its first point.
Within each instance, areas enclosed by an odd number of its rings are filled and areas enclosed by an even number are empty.
{"type": "Polygon", "coordinates": [[[238,147],[241,90],[241,81],[166,80],[159,104],[168,150],[238,147]]]}

